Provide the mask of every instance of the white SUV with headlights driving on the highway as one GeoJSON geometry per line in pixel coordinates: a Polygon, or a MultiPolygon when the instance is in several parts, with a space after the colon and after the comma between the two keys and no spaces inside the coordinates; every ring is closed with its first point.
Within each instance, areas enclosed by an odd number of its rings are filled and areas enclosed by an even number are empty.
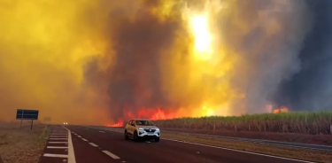
{"type": "Polygon", "coordinates": [[[129,120],[125,128],[125,138],[134,140],[154,139],[159,142],[160,130],[150,120],[129,120]]]}

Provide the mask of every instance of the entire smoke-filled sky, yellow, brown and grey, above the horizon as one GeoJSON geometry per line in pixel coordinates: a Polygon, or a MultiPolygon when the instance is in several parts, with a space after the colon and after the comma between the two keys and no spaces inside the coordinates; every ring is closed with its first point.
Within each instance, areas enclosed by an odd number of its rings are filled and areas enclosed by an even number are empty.
{"type": "Polygon", "coordinates": [[[0,120],[328,109],[328,0],[0,0],[0,120]]]}

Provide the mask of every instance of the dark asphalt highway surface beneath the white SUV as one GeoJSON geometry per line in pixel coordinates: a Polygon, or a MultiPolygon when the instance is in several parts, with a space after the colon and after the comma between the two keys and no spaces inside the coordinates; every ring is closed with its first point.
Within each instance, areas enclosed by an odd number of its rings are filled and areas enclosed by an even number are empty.
{"type": "MultiPolygon", "coordinates": [[[[60,128],[57,127],[58,130],[60,128]]],[[[55,149],[45,147],[40,163],[65,161],[68,163],[309,163],[309,161],[284,159],[248,151],[228,150],[166,139],[161,139],[158,143],[135,142],[125,140],[122,133],[100,128],[66,126],[61,133],[65,133],[66,129],[69,134],[67,139],[57,141],[66,142],[58,145],[67,148],[57,149],[56,145],[50,144],[55,140],[49,140],[46,146],[51,145],[55,149]],[[58,158],[57,155],[50,155],[51,153],[63,154],[58,155],[63,157],[58,158]]],[[[52,132],[51,135],[53,133],[56,132],[52,132]]]]}

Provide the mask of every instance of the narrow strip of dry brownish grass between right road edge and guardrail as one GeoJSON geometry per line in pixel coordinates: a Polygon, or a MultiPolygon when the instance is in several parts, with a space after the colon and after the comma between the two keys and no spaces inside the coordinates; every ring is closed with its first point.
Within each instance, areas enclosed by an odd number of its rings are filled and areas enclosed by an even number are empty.
{"type": "Polygon", "coordinates": [[[251,151],[262,154],[281,156],[290,159],[304,159],[315,162],[332,163],[332,152],[330,151],[315,151],[315,150],[298,149],[298,148],[282,147],[282,146],[267,145],[267,144],[237,142],[228,139],[220,139],[212,137],[181,136],[169,133],[163,133],[162,138],[181,140],[197,144],[208,144],[208,145],[219,146],[219,147],[230,148],[241,151],[251,151]]]}

